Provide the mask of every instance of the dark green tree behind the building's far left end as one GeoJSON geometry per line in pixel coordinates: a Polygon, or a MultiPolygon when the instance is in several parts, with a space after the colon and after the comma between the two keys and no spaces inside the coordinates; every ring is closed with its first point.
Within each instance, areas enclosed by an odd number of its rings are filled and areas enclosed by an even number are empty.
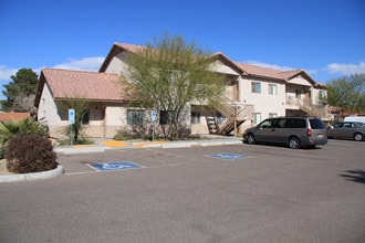
{"type": "Polygon", "coordinates": [[[2,94],[7,97],[1,102],[6,112],[31,112],[33,108],[38,74],[31,68],[21,68],[11,76],[12,82],[4,84],[6,91],[2,94]]]}

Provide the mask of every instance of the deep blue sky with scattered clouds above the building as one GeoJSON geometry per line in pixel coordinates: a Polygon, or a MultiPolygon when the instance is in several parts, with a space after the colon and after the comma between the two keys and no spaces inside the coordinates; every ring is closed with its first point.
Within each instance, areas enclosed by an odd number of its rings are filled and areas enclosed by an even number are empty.
{"type": "Polygon", "coordinates": [[[0,92],[19,68],[97,71],[114,42],[163,32],[321,83],[365,72],[364,0],[0,0],[0,92]]]}

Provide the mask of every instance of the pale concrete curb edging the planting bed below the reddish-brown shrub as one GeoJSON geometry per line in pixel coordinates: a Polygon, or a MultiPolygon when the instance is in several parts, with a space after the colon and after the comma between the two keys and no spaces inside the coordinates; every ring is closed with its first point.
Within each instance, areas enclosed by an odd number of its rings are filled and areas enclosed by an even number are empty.
{"type": "Polygon", "coordinates": [[[58,165],[53,170],[34,172],[34,173],[17,173],[17,175],[2,175],[0,176],[0,182],[14,182],[14,181],[27,181],[27,180],[41,180],[56,177],[63,173],[63,166],[58,165]]]}

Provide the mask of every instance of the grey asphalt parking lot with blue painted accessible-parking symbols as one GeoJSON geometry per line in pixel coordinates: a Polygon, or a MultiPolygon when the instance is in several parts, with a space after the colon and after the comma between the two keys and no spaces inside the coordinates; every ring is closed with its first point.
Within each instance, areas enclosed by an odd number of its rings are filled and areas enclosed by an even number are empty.
{"type": "Polygon", "coordinates": [[[364,148],[60,154],[64,175],[0,184],[0,242],[364,242],[364,148]]]}

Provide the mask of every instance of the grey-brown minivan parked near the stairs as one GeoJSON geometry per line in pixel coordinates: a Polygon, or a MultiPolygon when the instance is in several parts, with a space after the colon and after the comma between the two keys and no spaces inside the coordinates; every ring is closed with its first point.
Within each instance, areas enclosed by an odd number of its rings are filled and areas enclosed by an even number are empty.
{"type": "Polygon", "coordinates": [[[281,144],[296,149],[327,144],[323,122],[315,117],[268,118],[243,133],[243,142],[281,144]]]}

